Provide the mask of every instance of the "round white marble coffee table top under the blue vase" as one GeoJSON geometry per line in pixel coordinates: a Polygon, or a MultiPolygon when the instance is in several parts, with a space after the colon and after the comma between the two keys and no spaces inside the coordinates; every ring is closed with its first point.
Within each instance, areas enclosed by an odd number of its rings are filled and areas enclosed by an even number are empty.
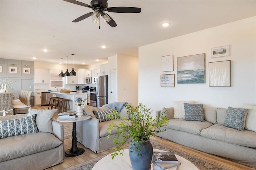
{"type": "MultiPolygon", "coordinates": [[[[161,152],[164,150],[154,149],[154,151],[161,152]]],[[[175,156],[181,163],[181,165],[178,167],[178,170],[199,170],[194,164],[192,164],[185,158],[182,158],[181,156],[178,156],[176,154],[175,156]]],[[[110,169],[111,170],[132,170],[128,149],[124,150],[124,156],[118,155],[114,159],[112,159],[112,156],[108,154],[107,156],[99,160],[92,168],[92,170],[110,170],[110,169]]],[[[169,168],[167,170],[172,170],[172,168],[169,168]]]]}

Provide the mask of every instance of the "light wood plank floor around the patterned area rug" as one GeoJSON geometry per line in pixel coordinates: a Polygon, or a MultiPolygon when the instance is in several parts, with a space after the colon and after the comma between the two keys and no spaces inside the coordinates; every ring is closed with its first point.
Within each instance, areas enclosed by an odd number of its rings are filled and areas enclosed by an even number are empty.
{"type": "MultiPolygon", "coordinates": [[[[32,107],[32,109],[48,109],[48,107],[46,107],[46,106],[44,106],[44,107],[32,107]]],[[[165,140],[165,139],[157,137],[157,136],[152,137],[151,139],[155,140],[156,142],[160,142],[162,144],[166,144],[168,146],[177,148],[179,150],[183,150],[184,152],[188,152],[190,154],[194,154],[196,156],[199,156],[199,157],[202,157],[204,159],[210,160],[212,162],[222,164],[222,165],[227,166],[229,168],[232,168],[234,170],[252,170],[253,169],[253,168],[250,168],[248,166],[244,166],[242,164],[238,164],[236,162],[227,160],[225,158],[221,158],[219,156],[215,156],[215,155],[212,155],[212,154],[201,152],[201,151],[198,151],[198,150],[195,150],[195,149],[192,149],[192,148],[189,148],[189,147],[171,142],[169,140],[165,140]]],[[[73,166],[75,164],[78,164],[78,163],[81,163],[81,162],[84,162],[84,161],[102,156],[104,154],[108,154],[108,153],[113,152],[113,150],[110,149],[110,150],[106,150],[105,152],[101,152],[99,154],[96,154],[96,153],[92,152],[90,149],[85,148],[79,142],[77,142],[77,145],[78,145],[78,147],[83,148],[85,150],[83,154],[81,154],[79,156],[75,156],[75,157],[65,156],[65,159],[64,159],[63,163],[58,164],[56,166],[52,166],[52,167],[48,168],[47,170],[60,170],[60,169],[63,169],[63,168],[68,168],[68,167],[73,166]]],[[[128,146],[128,144],[126,144],[126,145],[128,146]]],[[[64,140],[64,149],[67,150],[67,149],[71,148],[71,146],[72,146],[72,138],[65,139],[64,140]]]]}

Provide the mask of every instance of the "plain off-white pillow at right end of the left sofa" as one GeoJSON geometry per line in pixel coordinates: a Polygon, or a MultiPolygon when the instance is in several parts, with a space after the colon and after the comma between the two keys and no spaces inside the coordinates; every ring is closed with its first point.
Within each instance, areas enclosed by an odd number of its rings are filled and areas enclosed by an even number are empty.
{"type": "Polygon", "coordinates": [[[52,118],[55,113],[58,113],[58,109],[28,109],[28,115],[37,114],[36,125],[40,132],[53,133],[52,118]]]}

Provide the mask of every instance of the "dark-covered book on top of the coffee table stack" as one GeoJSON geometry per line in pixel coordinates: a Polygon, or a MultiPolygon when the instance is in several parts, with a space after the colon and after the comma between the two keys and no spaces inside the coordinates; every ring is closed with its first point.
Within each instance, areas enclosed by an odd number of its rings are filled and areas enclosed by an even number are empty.
{"type": "Polygon", "coordinates": [[[178,163],[173,152],[153,152],[154,162],[164,162],[164,163],[178,163]]]}

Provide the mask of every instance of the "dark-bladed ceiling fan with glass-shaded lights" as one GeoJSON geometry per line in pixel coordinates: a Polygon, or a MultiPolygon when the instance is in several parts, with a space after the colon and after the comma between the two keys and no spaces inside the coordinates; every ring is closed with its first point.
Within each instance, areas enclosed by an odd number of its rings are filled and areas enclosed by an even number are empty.
{"type": "Polygon", "coordinates": [[[89,12],[87,14],[84,14],[78,18],[76,18],[72,22],[79,22],[81,20],[84,20],[88,18],[89,16],[92,16],[93,22],[98,23],[99,22],[99,17],[100,15],[102,16],[104,22],[108,23],[108,25],[112,27],[116,27],[116,22],[111,18],[108,14],[105,13],[105,11],[108,12],[117,12],[117,13],[140,13],[141,8],[136,8],[136,7],[110,7],[108,8],[108,0],[92,0],[91,5],[84,4],[82,2],[76,1],[76,0],[64,0],[66,2],[70,2],[73,4],[85,6],[87,8],[91,8],[94,10],[94,12],[89,12]]]}

